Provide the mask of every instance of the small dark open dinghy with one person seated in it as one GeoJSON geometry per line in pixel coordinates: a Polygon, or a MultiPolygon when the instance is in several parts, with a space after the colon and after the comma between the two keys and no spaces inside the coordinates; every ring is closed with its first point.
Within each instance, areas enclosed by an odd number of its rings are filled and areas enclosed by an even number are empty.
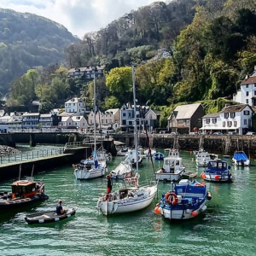
{"type": "Polygon", "coordinates": [[[55,215],[55,211],[51,212],[39,212],[34,213],[30,215],[26,215],[26,222],[28,224],[48,224],[48,223],[54,223],[59,222],[61,220],[67,219],[75,215],[76,209],[70,209],[67,214],[63,215],[55,215]]]}

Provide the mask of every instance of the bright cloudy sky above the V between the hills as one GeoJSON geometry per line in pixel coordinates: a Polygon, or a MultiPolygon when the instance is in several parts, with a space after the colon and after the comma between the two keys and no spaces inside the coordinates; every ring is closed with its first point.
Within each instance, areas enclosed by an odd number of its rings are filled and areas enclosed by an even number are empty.
{"type": "Polygon", "coordinates": [[[82,38],[155,0],[0,0],[0,8],[44,16],[82,38]]]}

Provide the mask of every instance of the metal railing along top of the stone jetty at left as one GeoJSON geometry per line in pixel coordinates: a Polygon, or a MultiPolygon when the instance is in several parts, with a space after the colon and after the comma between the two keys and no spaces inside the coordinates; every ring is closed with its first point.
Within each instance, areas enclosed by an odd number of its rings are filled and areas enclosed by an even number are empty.
{"type": "Polygon", "coordinates": [[[42,157],[52,156],[56,154],[63,154],[64,148],[50,148],[44,150],[37,150],[32,152],[20,152],[17,154],[0,155],[0,165],[24,160],[34,160],[42,157]]]}

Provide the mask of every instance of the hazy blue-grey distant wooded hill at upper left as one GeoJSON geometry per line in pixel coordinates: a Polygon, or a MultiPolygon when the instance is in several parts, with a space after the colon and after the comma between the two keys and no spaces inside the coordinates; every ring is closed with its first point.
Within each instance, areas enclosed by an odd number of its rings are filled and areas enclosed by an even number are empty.
{"type": "Polygon", "coordinates": [[[0,97],[9,82],[28,69],[64,62],[64,49],[76,42],[79,39],[52,20],[0,9],[0,97]]]}

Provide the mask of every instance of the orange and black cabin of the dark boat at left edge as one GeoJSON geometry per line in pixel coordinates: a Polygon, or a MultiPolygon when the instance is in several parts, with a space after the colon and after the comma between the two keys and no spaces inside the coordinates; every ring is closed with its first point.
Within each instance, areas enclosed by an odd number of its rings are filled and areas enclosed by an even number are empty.
{"type": "Polygon", "coordinates": [[[12,198],[32,197],[37,195],[37,183],[30,180],[19,180],[12,183],[12,198]]]}

